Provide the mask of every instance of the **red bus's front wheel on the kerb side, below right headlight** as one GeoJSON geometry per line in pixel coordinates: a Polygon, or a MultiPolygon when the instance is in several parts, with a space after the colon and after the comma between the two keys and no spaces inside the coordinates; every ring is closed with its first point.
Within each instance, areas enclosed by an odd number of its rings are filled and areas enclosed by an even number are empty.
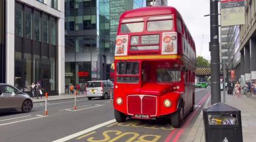
{"type": "Polygon", "coordinates": [[[181,104],[181,106],[178,108],[178,111],[171,115],[171,125],[173,125],[174,128],[179,128],[182,125],[183,116],[184,107],[183,104],[181,104]]]}

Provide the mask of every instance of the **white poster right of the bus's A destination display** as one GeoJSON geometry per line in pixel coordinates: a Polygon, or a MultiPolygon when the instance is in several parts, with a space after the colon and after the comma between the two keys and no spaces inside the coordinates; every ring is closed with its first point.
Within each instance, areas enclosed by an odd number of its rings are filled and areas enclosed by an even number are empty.
{"type": "Polygon", "coordinates": [[[162,54],[177,54],[177,33],[166,32],[162,36],[162,54]]]}

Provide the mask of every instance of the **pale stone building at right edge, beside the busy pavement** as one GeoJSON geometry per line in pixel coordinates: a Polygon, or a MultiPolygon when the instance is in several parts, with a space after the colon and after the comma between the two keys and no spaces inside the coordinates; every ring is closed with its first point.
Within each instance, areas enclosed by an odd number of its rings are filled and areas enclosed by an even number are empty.
{"type": "MultiPolygon", "coordinates": [[[[230,50],[229,70],[235,71],[235,80],[256,82],[256,1],[245,1],[245,24],[234,27],[239,42],[230,50]],[[238,33],[239,29],[239,33],[238,33]],[[237,45],[238,44],[238,45],[237,45]]],[[[230,74],[230,73],[229,73],[230,74]]],[[[231,76],[231,75],[230,75],[231,76]]]]}

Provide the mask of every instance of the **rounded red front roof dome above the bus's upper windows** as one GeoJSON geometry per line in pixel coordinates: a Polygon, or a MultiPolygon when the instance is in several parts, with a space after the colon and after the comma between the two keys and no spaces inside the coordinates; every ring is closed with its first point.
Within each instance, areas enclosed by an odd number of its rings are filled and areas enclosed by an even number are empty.
{"type": "Polygon", "coordinates": [[[121,18],[174,14],[176,12],[177,9],[174,7],[143,7],[126,11],[121,15],[121,18]]]}

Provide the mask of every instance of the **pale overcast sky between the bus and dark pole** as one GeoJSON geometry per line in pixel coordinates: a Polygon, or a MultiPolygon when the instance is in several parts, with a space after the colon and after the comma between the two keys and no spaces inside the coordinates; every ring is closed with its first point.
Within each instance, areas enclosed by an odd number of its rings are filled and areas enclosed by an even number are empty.
{"type": "Polygon", "coordinates": [[[196,46],[196,56],[210,60],[210,1],[208,0],[168,0],[168,6],[175,7],[182,15],[196,46]],[[204,35],[204,39],[202,37],[204,35]]]}

